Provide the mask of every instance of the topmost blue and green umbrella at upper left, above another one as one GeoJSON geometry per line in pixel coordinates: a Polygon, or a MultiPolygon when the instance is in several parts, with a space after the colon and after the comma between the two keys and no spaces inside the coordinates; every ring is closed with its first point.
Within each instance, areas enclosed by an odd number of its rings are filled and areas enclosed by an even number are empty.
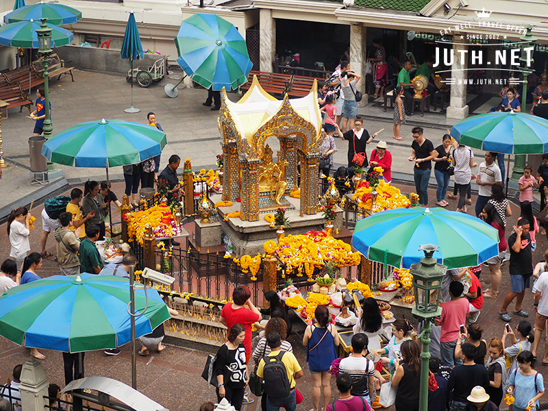
{"type": "Polygon", "coordinates": [[[79,21],[82,12],[58,3],[41,2],[25,5],[25,0],[16,0],[14,10],[4,16],[4,23],[40,21],[40,18],[47,18],[49,24],[64,25],[79,21]]]}

